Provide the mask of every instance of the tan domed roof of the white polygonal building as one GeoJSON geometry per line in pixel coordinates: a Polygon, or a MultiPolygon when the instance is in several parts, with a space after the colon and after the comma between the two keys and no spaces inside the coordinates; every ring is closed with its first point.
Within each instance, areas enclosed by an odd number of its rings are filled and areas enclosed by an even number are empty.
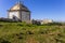
{"type": "Polygon", "coordinates": [[[9,11],[27,11],[30,12],[24,4],[22,3],[16,3],[13,5],[9,11]]]}

